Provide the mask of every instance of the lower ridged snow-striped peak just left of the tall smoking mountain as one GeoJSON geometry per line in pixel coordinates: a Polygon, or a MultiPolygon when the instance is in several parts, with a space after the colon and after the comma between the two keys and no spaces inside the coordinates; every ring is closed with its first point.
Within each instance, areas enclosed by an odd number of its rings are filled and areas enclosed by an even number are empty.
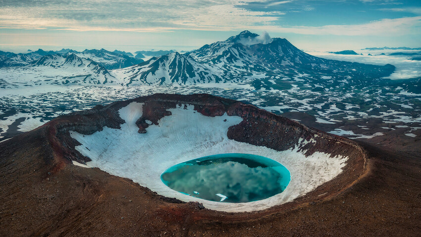
{"type": "Polygon", "coordinates": [[[218,83],[224,81],[224,71],[207,63],[200,63],[187,55],[171,53],[152,58],[138,65],[114,70],[122,85],[170,85],[218,83]]]}

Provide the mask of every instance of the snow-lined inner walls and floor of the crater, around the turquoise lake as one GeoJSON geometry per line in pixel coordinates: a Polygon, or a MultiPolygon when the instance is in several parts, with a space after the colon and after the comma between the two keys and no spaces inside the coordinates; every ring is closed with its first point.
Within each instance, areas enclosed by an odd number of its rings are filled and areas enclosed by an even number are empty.
{"type": "Polygon", "coordinates": [[[56,132],[49,138],[60,150],[57,157],[132,179],[164,200],[200,202],[217,211],[260,211],[306,194],[325,198],[351,185],[365,168],[366,153],[352,141],[206,94],[156,94],[59,120],[63,119],[68,121],[54,122],[56,132]],[[174,191],[160,179],[173,165],[220,153],[280,162],[291,171],[291,182],[282,193],[264,200],[222,203],[174,191]]]}

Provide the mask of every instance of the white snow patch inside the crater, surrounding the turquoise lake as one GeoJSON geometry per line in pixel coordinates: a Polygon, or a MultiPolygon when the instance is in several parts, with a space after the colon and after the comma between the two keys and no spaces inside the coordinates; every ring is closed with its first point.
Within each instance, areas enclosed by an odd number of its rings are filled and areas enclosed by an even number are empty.
{"type": "MultiPolygon", "coordinates": [[[[227,137],[227,130],[240,123],[242,118],[227,114],[207,117],[194,111],[191,105],[187,109],[184,105],[169,109],[171,116],[163,117],[158,121],[159,125],[152,124],[146,129],[147,133],[141,134],[135,122],[142,116],[142,109],[143,103],[137,102],[121,108],[120,117],[126,121],[121,124],[121,129],[104,127],[91,135],[70,131],[71,137],[82,144],[76,150],[92,160],[86,167],[98,167],[111,175],[130,178],[166,197],[201,202],[212,210],[257,211],[292,201],[339,175],[347,159],[329,157],[321,152],[306,157],[303,151],[298,152],[298,148],[276,151],[231,140],[227,137]],[[173,165],[222,153],[248,153],[275,160],[290,171],[291,182],[282,193],[267,199],[224,203],[182,194],[160,179],[160,175],[173,165]]],[[[305,141],[300,139],[300,142],[305,141]]]]}

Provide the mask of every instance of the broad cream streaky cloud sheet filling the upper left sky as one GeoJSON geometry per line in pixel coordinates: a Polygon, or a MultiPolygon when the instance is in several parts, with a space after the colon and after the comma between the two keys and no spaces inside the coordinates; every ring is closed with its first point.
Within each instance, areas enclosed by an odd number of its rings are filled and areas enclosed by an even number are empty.
{"type": "Polygon", "coordinates": [[[0,27],[231,30],[268,24],[284,14],[244,9],[252,1],[260,0],[0,0],[0,27]]]}

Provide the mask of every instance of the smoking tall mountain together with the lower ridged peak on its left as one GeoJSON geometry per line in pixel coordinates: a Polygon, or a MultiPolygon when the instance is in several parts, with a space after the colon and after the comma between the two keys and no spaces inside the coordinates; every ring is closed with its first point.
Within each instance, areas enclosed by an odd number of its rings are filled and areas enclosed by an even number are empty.
{"type": "MultiPolygon", "coordinates": [[[[145,52],[138,52],[145,53],[145,52]]],[[[186,54],[170,53],[114,71],[122,85],[249,83],[256,89],[282,89],[294,83],[337,86],[372,83],[394,66],[317,58],[286,39],[243,31],[226,41],[186,54]]]]}

